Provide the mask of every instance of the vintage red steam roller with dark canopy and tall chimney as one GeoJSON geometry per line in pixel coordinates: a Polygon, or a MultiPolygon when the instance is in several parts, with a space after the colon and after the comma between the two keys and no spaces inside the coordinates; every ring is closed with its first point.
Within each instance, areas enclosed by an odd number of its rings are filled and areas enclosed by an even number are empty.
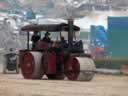
{"type": "MultiPolygon", "coordinates": [[[[90,54],[85,54],[83,43],[76,40],[76,34],[80,28],[69,24],[51,25],[27,25],[22,27],[27,32],[28,48],[20,50],[20,66],[22,75],[26,79],[41,79],[46,75],[48,79],[85,80],[90,81],[94,76],[95,64],[90,54]],[[46,42],[37,40],[29,46],[30,35],[33,31],[37,34],[41,31],[46,33],[59,32],[59,38],[46,42]],[[68,34],[68,40],[64,41],[62,34],[68,34]]],[[[41,34],[40,34],[41,35],[41,34]]]]}

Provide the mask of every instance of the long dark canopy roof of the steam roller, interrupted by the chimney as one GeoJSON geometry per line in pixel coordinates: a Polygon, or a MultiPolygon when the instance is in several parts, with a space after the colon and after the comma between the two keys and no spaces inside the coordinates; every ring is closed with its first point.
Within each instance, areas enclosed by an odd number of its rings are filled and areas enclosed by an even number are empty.
{"type": "MultiPolygon", "coordinates": [[[[80,31],[80,28],[76,25],[73,26],[74,31],[80,31]]],[[[47,32],[60,32],[60,31],[67,31],[69,30],[69,25],[65,23],[61,24],[30,24],[26,25],[21,28],[22,31],[34,31],[34,32],[40,32],[40,31],[47,31],[47,32]]]]}

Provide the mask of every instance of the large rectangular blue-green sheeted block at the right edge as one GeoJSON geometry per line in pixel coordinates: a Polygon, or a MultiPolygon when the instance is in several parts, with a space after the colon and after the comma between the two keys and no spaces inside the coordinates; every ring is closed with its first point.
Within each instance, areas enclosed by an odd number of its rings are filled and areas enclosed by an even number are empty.
{"type": "Polygon", "coordinates": [[[128,17],[108,17],[108,53],[128,57],[128,17]]]}

